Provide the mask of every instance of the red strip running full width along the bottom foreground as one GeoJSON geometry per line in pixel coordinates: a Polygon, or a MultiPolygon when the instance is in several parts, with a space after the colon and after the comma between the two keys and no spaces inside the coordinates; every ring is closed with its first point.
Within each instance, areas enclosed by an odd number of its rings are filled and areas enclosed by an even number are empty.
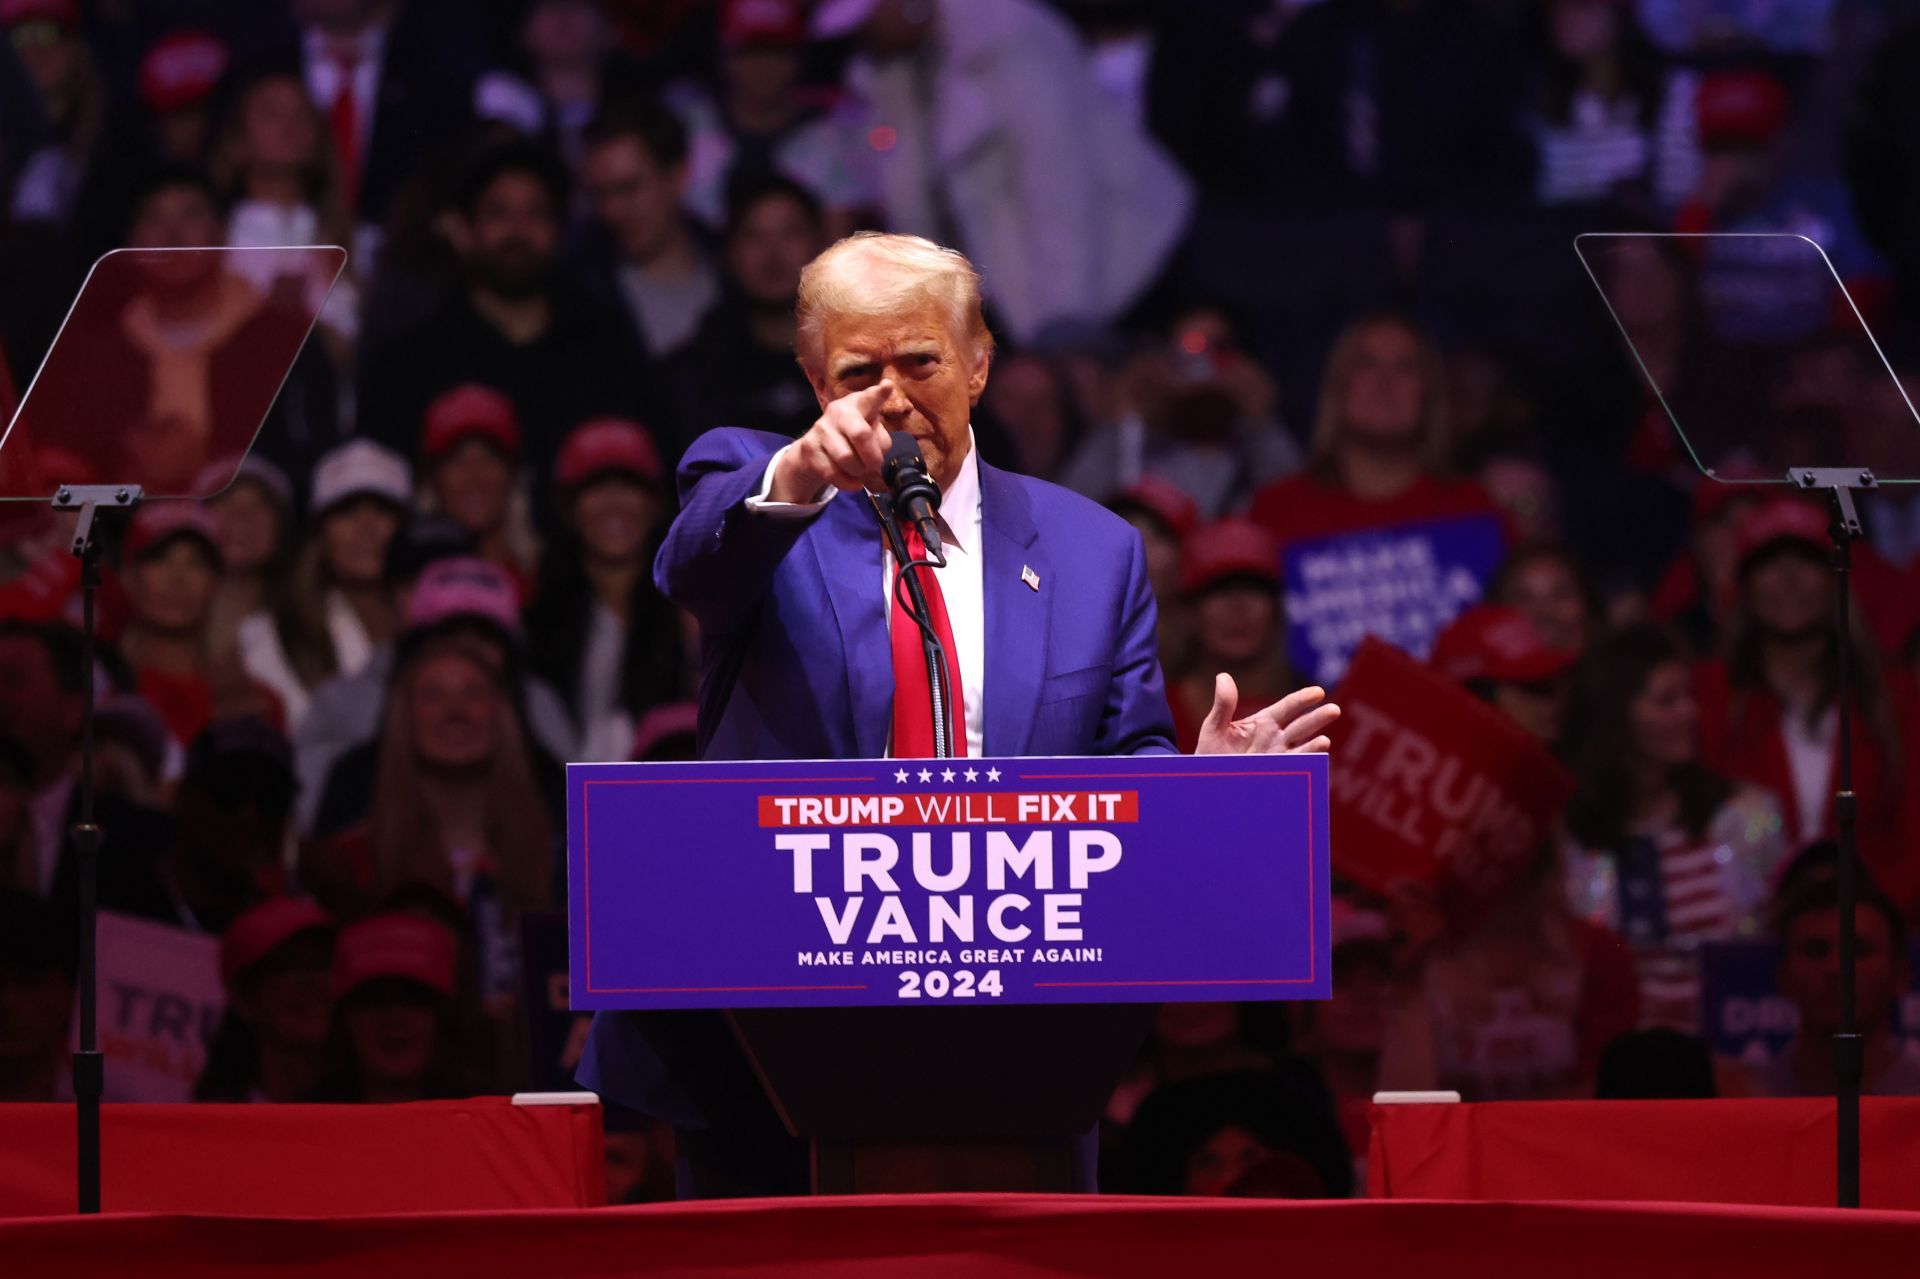
{"type": "Polygon", "coordinates": [[[1910,1279],[1920,1216],[1645,1204],[947,1195],[338,1221],[0,1221],[0,1271],[61,1279],[1910,1279]]]}

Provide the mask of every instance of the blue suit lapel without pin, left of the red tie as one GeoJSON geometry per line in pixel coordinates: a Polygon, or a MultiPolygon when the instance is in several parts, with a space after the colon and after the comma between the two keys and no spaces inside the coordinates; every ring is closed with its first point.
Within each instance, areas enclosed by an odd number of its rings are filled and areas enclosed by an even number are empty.
{"type": "Polygon", "coordinates": [[[841,632],[854,753],[858,759],[879,759],[887,751],[893,720],[893,647],[879,578],[879,524],[866,497],[841,494],[822,511],[816,534],[808,542],[841,632]]]}

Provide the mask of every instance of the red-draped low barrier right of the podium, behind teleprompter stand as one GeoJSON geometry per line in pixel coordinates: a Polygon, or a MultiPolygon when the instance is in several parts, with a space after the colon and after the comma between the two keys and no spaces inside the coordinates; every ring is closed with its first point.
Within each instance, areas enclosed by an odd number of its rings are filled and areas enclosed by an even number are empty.
{"type": "MultiPolygon", "coordinates": [[[[1864,1098],[1860,1202],[1920,1210],[1916,1173],[1920,1098],[1864,1098]]],[[[1375,1106],[1367,1183],[1373,1198],[1824,1208],[1834,1202],[1834,1102],[1375,1106]]]]}

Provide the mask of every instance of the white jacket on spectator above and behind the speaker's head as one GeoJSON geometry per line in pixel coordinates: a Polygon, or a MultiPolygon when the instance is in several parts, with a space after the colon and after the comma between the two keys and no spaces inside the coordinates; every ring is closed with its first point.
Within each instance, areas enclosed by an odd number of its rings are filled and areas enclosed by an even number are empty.
{"type": "Polygon", "coordinates": [[[858,58],[849,83],[895,140],[877,156],[893,230],[950,227],[1016,342],[1110,321],[1165,265],[1192,184],[1033,0],[937,0],[924,58],[858,58]]]}

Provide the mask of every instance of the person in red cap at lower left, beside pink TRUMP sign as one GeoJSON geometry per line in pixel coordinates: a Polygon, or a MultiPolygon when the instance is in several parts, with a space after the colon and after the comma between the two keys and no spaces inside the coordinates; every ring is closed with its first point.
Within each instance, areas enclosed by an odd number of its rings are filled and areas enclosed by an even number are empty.
{"type": "Polygon", "coordinates": [[[334,920],[311,901],[273,897],[221,933],[227,1012],[194,1100],[305,1100],[321,1081],[332,1016],[334,920]]]}

